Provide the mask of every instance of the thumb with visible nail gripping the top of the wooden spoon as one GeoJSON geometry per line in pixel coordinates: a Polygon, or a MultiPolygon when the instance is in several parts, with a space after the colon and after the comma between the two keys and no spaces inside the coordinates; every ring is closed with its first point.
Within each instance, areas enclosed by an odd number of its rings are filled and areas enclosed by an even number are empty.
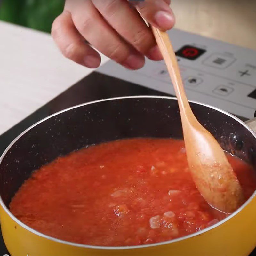
{"type": "Polygon", "coordinates": [[[170,0],[130,0],[141,16],[156,28],[169,30],[175,23],[170,0]]]}

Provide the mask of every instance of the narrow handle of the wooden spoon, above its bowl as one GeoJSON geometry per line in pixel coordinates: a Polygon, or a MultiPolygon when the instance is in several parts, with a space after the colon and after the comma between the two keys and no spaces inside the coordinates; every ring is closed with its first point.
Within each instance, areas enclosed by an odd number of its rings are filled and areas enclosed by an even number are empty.
{"type": "Polygon", "coordinates": [[[164,57],[167,70],[170,74],[172,84],[178,99],[181,115],[183,117],[182,112],[184,111],[184,113],[188,114],[186,116],[191,116],[193,113],[189,106],[188,99],[184,90],[180,69],[170,38],[166,32],[160,31],[158,28],[153,26],[151,26],[151,28],[156,38],[156,43],[164,57]]]}

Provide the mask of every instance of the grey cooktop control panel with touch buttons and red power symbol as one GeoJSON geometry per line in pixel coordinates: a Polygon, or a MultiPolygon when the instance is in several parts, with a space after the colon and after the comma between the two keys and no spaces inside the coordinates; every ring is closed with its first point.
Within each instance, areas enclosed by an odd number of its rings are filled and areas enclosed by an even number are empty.
{"type": "MultiPolygon", "coordinates": [[[[172,29],[169,32],[189,100],[252,118],[256,110],[256,51],[172,29]]],[[[99,72],[175,94],[164,61],[131,71],[110,60],[99,72]]],[[[122,85],[120,85],[122,86],[122,85]]]]}

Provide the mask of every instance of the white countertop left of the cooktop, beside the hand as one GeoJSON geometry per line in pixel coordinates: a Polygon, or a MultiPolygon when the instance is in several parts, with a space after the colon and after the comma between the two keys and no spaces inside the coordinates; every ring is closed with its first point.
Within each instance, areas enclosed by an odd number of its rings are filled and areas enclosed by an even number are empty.
{"type": "Polygon", "coordinates": [[[2,21],[0,32],[2,134],[93,69],[65,59],[49,34],[2,21]]]}

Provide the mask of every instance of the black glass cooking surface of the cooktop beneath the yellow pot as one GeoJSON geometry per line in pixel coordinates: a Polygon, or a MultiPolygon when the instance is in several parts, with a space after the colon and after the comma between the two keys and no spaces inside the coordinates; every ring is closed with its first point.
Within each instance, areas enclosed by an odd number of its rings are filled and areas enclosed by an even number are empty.
{"type": "MultiPolygon", "coordinates": [[[[60,110],[93,100],[136,95],[172,96],[138,84],[132,84],[111,76],[93,72],[45,104],[43,107],[36,110],[10,130],[0,135],[0,155],[12,140],[25,129],[37,121],[60,110]]],[[[0,232],[0,256],[4,254],[9,255],[0,232]]],[[[250,255],[256,256],[256,249],[250,255]]]]}

